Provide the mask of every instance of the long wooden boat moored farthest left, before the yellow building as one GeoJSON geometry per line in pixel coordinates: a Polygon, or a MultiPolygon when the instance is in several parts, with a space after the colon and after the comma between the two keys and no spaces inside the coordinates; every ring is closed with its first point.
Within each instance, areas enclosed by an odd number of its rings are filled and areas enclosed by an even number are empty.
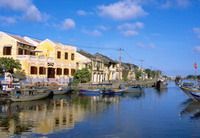
{"type": "Polygon", "coordinates": [[[16,90],[12,92],[10,100],[13,102],[35,101],[47,98],[50,94],[51,92],[49,91],[37,92],[37,90],[33,89],[24,90],[23,92],[16,90]]]}

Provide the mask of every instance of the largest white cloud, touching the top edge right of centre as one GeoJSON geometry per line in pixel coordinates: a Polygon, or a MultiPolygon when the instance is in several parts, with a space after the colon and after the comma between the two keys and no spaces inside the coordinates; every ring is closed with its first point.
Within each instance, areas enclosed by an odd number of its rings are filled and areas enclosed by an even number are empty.
{"type": "Polygon", "coordinates": [[[131,0],[101,5],[98,10],[101,16],[111,17],[116,20],[128,20],[147,15],[141,5],[131,0]]]}

